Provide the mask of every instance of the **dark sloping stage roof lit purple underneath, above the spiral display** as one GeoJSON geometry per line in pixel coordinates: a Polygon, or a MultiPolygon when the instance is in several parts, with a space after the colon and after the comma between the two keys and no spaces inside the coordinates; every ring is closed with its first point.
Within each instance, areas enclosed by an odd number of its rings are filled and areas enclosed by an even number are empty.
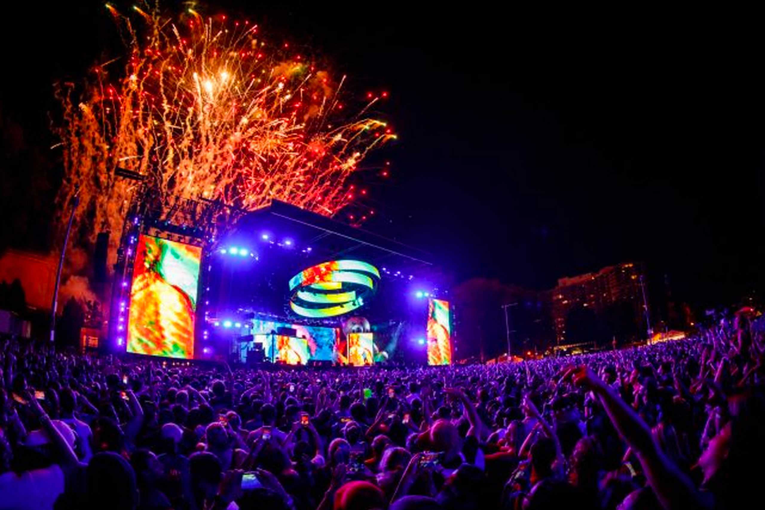
{"type": "Polygon", "coordinates": [[[435,269],[431,255],[422,250],[278,200],[239,217],[216,246],[248,239],[262,242],[264,236],[298,251],[311,249],[311,255],[327,261],[353,258],[415,273],[435,269]]]}

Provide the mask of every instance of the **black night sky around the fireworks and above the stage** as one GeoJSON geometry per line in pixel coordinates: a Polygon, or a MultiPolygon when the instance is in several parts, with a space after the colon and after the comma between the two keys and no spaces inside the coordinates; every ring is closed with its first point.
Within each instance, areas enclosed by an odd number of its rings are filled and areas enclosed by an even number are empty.
{"type": "MultiPolygon", "coordinates": [[[[24,154],[50,145],[50,83],[82,73],[114,33],[103,2],[27,3],[4,18],[0,79],[3,125],[21,127],[24,154]]],[[[370,182],[379,214],[366,228],[428,249],[458,278],[549,288],[642,260],[694,304],[762,288],[765,41],[754,12],[265,3],[197,9],[246,13],[321,50],[352,89],[391,94],[399,141],[370,161],[391,161],[392,177],[370,182]]],[[[6,192],[34,161],[6,158],[6,192]]]]}

